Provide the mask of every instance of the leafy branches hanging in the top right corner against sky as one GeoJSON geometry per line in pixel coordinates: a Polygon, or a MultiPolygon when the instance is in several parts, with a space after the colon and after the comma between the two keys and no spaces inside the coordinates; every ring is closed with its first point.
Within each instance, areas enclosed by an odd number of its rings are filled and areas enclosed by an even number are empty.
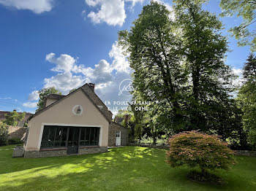
{"type": "Polygon", "coordinates": [[[239,46],[251,46],[252,52],[256,51],[256,1],[255,0],[222,0],[222,16],[242,17],[243,22],[239,26],[230,28],[232,36],[238,39],[239,46]]]}

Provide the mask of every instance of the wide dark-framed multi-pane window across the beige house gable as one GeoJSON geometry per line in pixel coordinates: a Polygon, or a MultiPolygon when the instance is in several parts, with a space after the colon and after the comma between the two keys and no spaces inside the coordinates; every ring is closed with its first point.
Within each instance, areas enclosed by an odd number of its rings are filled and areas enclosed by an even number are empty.
{"type": "Polygon", "coordinates": [[[99,128],[78,128],[45,125],[41,149],[67,146],[98,146],[99,128]]]}

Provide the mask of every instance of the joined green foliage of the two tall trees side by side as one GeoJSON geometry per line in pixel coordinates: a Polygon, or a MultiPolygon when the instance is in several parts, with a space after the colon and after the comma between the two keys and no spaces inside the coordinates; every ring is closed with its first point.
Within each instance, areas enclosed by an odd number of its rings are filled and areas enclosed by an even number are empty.
{"type": "Polygon", "coordinates": [[[203,0],[176,0],[176,19],[157,2],[143,7],[118,43],[134,69],[134,98],[151,101],[148,124],[156,141],[159,128],[217,130],[223,139],[236,122],[233,74],[225,65],[227,38],[216,15],[203,0]]]}

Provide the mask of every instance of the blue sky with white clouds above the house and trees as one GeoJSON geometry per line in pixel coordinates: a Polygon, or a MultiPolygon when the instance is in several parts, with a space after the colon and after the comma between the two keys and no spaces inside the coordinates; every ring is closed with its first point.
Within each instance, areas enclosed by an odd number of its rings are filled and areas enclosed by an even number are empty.
{"type": "MultiPolygon", "coordinates": [[[[117,32],[129,29],[148,0],[0,0],[0,110],[34,112],[37,90],[55,86],[66,94],[97,83],[103,101],[127,101],[118,86],[131,73],[116,46],[117,32]]],[[[163,1],[171,5],[171,1],[163,1]]],[[[205,9],[219,14],[219,1],[205,9]]],[[[241,22],[221,18],[224,35],[241,22]]],[[[226,63],[237,74],[249,55],[230,38],[226,63]]]]}

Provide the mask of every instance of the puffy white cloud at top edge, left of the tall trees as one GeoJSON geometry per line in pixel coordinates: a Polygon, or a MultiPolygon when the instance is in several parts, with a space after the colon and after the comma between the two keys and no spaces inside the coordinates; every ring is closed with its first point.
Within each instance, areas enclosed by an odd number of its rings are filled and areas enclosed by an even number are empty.
{"type": "Polygon", "coordinates": [[[105,22],[110,26],[122,26],[127,17],[124,0],[86,0],[86,4],[91,7],[100,7],[98,12],[91,11],[88,15],[93,23],[105,22]]]}

